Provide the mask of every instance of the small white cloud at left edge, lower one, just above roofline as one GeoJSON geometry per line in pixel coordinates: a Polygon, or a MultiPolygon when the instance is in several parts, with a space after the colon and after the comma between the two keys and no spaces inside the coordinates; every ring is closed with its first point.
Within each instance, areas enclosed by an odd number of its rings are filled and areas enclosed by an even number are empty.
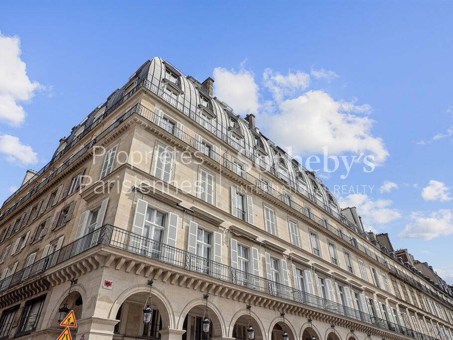
{"type": "Polygon", "coordinates": [[[31,146],[22,144],[19,138],[9,134],[0,134],[0,153],[10,163],[28,165],[38,162],[38,155],[31,146]]]}

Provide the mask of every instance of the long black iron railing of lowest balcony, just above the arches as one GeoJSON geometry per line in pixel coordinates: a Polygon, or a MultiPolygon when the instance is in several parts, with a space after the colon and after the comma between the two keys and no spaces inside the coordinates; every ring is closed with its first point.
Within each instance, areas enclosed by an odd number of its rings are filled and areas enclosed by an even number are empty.
{"type": "Polygon", "coordinates": [[[0,292],[12,288],[28,279],[44,273],[99,244],[110,245],[128,252],[142,255],[154,260],[201,273],[232,284],[240,285],[261,293],[270,294],[282,299],[318,308],[330,313],[341,315],[356,321],[376,326],[418,340],[435,340],[412,329],[376,318],[363,311],[359,311],[334,301],[321,298],[314,294],[269,280],[248,272],[227,266],[223,263],[190,253],[151,238],[135,234],[128,230],[105,225],[87,235],[52,252],[30,266],[6,277],[0,281],[0,292]]]}

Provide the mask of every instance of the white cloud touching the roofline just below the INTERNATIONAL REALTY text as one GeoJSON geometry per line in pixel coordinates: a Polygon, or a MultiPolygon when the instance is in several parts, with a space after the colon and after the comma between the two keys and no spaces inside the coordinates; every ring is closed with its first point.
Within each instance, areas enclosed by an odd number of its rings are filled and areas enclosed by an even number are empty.
{"type": "Polygon", "coordinates": [[[372,200],[365,194],[351,194],[340,197],[338,200],[340,207],[356,207],[358,214],[362,217],[362,223],[366,228],[371,225],[384,225],[401,217],[401,213],[392,209],[391,200],[372,200]]]}

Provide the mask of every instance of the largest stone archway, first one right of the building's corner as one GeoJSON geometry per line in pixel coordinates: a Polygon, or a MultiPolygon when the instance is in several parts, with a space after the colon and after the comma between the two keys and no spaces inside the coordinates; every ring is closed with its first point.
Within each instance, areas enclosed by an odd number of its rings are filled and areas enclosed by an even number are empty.
{"type": "Polygon", "coordinates": [[[124,338],[161,339],[159,331],[170,327],[170,314],[154,288],[148,298],[149,294],[149,291],[136,292],[120,304],[116,314],[112,315],[119,320],[114,326],[115,334],[124,338]],[[149,323],[145,324],[143,309],[146,305],[150,306],[152,314],[149,323]]]}

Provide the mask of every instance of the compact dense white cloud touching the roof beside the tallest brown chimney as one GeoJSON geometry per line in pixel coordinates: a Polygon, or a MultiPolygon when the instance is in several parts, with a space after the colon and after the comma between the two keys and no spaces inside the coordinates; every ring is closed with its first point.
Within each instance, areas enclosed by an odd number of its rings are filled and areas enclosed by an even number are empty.
{"type": "Polygon", "coordinates": [[[235,72],[216,67],[213,75],[215,96],[231,106],[235,113],[258,111],[258,85],[252,72],[243,68],[235,72]]]}

